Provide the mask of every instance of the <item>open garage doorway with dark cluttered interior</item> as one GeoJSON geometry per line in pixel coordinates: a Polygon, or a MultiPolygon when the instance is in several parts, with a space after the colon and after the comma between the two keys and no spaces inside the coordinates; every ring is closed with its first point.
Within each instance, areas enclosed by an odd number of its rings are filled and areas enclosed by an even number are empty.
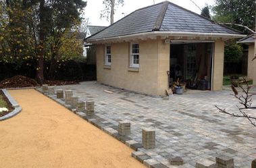
{"type": "Polygon", "coordinates": [[[172,43],[170,86],[180,80],[186,88],[211,90],[213,46],[214,43],[172,43]]]}

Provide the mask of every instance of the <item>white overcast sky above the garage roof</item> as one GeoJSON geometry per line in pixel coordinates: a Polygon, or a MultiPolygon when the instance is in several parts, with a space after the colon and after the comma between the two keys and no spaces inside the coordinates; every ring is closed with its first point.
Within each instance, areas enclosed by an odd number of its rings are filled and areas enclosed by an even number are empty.
{"type": "MultiPolygon", "coordinates": [[[[89,25],[93,26],[109,26],[109,22],[103,18],[102,20],[99,18],[101,10],[104,9],[104,5],[102,3],[103,0],[87,0],[87,6],[84,9],[85,18],[89,18],[89,25]]],[[[116,0],[117,1],[117,0],[116,0]]],[[[155,3],[160,3],[165,0],[155,0],[155,3]]],[[[201,13],[200,9],[190,0],[169,0],[176,5],[180,5],[190,11],[194,11],[196,13],[201,13]]],[[[213,5],[214,0],[193,0],[201,9],[205,7],[206,4],[213,5]]],[[[114,15],[114,22],[120,20],[125,15],[128,15],[132,11],[136,9],[140,9],[142,7],[147,7],[149,5],[153,5],[153,0],[124,0],[124,6],[118,6],[116,8],[116,13],[114,15]]]]}

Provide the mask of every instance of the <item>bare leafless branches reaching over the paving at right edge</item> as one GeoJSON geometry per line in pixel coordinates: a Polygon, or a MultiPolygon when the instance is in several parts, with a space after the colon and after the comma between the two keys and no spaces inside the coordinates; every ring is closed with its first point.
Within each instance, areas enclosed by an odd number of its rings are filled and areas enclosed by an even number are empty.
{"type": "Polygon", "coordinates": [[[232,117],[244,117],[248,119],[250,123],[256,127],[256,114],[252,116],[245,110],[245,109],[256,109],[256,107],[251,107],[253,103],[252,97],[253,95],[256,95],[256,94],[250,92],[252,86],[249,86],[247,79],[244,78],[242,82],[245,83],[245,86],[242,86],[242,84],[239,84],[239,88],[242,90],[242,94],[239,94],[233,85],[231,86],[234,92],[234,94],[231,94],[231,95],[234,96],[236,99],[238,99],[238,102],[240,103],[240,105],[242,105],[242,107],[238,107],[238,105],[236,106],[239,113],[228,112],[226,111],[226,109],[221,109],[220,107],[217,107],[217,105],[215,105],[215,107],[219,110],[220,113],[228,114],[228,115],[231,115],[232,117]]]}

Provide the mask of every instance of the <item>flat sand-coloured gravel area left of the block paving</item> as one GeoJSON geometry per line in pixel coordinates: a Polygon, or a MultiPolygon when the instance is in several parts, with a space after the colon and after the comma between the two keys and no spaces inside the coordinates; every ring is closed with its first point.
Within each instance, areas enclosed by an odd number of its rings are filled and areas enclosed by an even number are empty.
{"type": "Polygon", "coordinates": [[[0,167],[145,167],[128,146],[36,90],[9,92],[22,112],[0,121],[0,167]]]}

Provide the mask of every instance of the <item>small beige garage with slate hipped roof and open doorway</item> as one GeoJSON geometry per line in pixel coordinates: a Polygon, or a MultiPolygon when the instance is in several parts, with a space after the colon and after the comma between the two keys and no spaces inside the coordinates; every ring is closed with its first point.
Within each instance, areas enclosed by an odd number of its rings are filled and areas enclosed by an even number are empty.
{"type": "Polygon", "coordinates": [[[96,46],[97,81],[165,95],[170,82],[205,80],[222,90],[224,42],[241,32],[164,1],[138,9],[86,38],[96,46]]]}

